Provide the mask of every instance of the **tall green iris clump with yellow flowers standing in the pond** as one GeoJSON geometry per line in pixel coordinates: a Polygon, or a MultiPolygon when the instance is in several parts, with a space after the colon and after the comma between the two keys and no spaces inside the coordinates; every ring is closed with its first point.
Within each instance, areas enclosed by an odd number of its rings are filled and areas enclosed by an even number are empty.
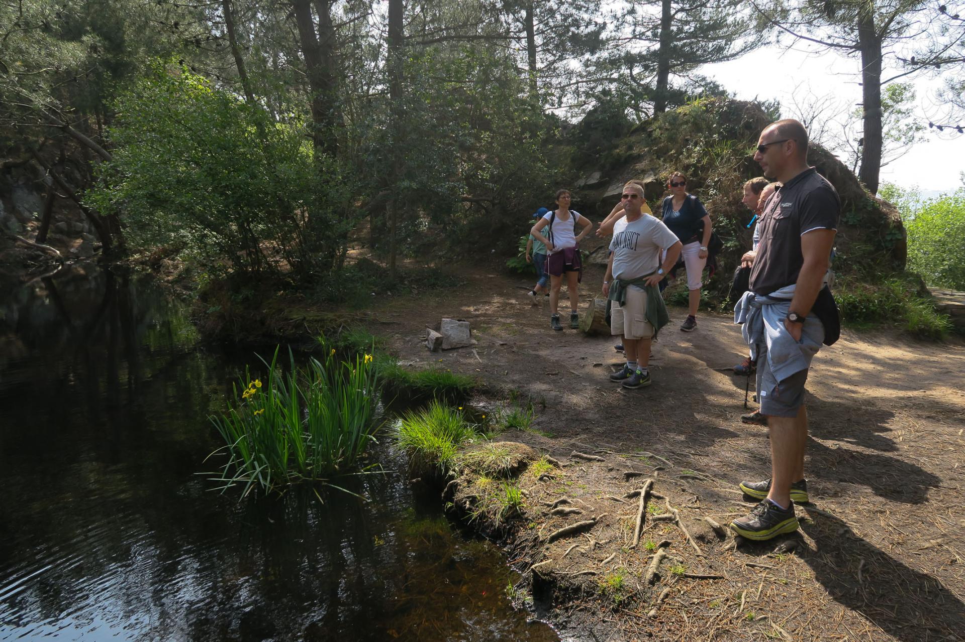
{"type": "MultiPolygon", "coordinates": [[[[321,361],[299,368],[278,365],[278,350],[262,383],[247,375],[234,387],[228,412],[212,416],[225,440],[228,463],[216,480],[222,489],[244,484],[244,493],[303,480],[327,480],[355,469],[375,441],[378,382],[371,355],[338,361],[328,349],[321,361]],[[240,389],[239,389],[240,388],[240,389]]],[[[261,359],[261,358],[260,358],[261,359]]]]}

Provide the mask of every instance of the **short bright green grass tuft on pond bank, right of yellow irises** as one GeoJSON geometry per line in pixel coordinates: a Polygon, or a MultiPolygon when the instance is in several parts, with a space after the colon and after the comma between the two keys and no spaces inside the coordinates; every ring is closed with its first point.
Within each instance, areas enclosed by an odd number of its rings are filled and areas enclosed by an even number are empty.
{"type": "Polygon", "coordinates": [[[409,411],[399,424],[399,443],[416,468],[451,467],[460,444],[480,437],[476,427],[456,410],[433,400],[421,412],[409,411]]]}

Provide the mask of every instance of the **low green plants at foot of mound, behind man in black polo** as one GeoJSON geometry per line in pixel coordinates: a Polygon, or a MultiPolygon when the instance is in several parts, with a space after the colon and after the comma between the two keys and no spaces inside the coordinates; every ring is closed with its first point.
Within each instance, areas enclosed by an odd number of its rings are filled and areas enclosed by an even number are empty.
{"type": "Polygon", "coordinates": [[[935,311],[917,286],[893,277],[880,282],[841,279],[835,288],[841,321],[851,327],[896,323],[922,338],[942,338],[951,331],[948,315],[935,311]]]}

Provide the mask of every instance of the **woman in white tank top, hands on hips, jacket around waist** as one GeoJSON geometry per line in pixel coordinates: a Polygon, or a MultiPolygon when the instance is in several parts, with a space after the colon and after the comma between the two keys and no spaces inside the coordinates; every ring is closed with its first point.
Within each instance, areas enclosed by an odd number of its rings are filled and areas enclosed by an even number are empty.
{"type": "Polygon", "coordinates": [[[563,330],[560,325],[560,313],[557,311],[560,303],[560,286],[563,275],[566,275],[566,289],[569,291],[569,327],[574,330],[580,327],[580,314],[577,307],[580,303],[578,283],[581,281],[582,262],[580,260],[579,243],[583,237],[593,229],[593,223],[579,212],[569,209],[570,195],[568,190],[556,193],[557,209],[543,214],[530,233],[546,246],[546,272],[549,273],[549,323],[553,330],[563,330]],[[576,226],[582,226],[580,233],[576,233],[576,226]],[[542,229],[547,229],[546,235],[542,229]]]}

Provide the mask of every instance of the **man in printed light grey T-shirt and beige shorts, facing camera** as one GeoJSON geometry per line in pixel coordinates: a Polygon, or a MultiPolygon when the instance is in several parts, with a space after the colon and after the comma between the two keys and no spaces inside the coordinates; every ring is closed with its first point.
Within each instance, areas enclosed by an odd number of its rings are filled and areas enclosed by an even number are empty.
{"type": "Polygon", "coordinates": [[[681,244],[667,226],[641,210],[644,190],[635,183],[623,186],[625,226],[610,241],[610,262],[603,278],[603,296],[613,302],[611,334],[621,334],[626,364],[610,375],[623,388],[650,385],[650,342],[670,321],[657,283],[674,266],[681,244]],[[660,253],[665,252],[663,265],[660,253]]]}

